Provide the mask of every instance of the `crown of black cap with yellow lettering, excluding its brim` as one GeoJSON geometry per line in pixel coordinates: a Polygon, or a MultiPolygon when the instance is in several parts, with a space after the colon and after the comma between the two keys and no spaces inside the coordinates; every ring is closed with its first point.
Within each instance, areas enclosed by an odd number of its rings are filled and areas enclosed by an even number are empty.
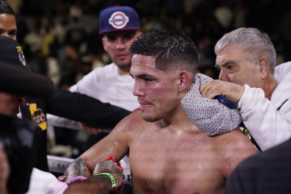
{"type": "Polygon", "coordinates": [[[0,35],[0,61],[26,67],[21,46],[12,38],[0,35]]]}

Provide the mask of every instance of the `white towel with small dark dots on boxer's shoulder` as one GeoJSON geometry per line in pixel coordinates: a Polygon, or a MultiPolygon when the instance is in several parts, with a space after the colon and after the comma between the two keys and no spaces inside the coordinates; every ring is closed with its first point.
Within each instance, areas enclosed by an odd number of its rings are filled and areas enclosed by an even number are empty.
{"type": "Polygon", "coordinates": [[[238,109],[229,109],[216,99],[202,98],[200,85],[213,79],[196,74],[189,92],[181,100],[184,112],[194,125],[206,135],[217,135],[236,129],[242,116],[238,109]]]}

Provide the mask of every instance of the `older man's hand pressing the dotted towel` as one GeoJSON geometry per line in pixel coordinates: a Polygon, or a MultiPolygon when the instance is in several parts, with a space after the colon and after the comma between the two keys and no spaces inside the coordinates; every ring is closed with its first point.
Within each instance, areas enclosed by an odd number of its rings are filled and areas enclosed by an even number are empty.
{"type": "Polygon", "coordinates": [[[200,85],[203,98],[213,99],[215,96],[223,95],[236,104],[242,97],[244,89],[245,87],[241,85],[221,80],[213,80],[200,85]]]}

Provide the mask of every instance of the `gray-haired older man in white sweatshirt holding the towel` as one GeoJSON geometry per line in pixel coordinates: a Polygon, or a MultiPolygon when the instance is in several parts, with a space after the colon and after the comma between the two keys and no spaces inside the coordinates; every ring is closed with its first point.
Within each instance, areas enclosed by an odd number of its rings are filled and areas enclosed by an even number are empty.
{"type": "Polygon", "coordinates": [[[275,67],[266,33],[239,28],[215,46],[219,80],[200,86],[202,97],[224,95],[238,103],[243,123],[262,151],[291,137],[291,62],[275,67]]]}

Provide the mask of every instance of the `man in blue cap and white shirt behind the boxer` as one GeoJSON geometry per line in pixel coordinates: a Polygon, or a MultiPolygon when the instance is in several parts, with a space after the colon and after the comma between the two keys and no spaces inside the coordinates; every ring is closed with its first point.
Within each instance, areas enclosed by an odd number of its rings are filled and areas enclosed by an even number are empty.
{"type": "MultiPolygon", "coordinates": [[[[132,94],[134,79],[129,75],[131,56],[128,49],[141,34],[139,29],[139,16],[133,8],[113,6],[102,10],[99,18],[99,34],[103,35],[102,44],[112,63],[95,68],[73,85],[70,91],[89,95],[101,102],[129,111],[138,109],[139,103],[136,96],[132,94]]],[[[102,131],[84,123],[79,123],[79,126],[75,121],[54,115],[48,115],[47,118],[48,125],[72,129],[81,127],[89,134],[98,134],[102,131]]]]}

